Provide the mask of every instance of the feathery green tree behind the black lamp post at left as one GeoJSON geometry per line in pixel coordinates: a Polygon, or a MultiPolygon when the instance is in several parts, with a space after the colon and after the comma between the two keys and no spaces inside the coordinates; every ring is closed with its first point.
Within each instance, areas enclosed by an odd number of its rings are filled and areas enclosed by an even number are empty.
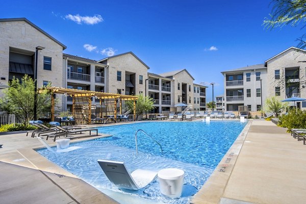
{"type": "MultiPolygon", "coordinates": [[[[15,77],[9,83],[0,99],[0,110],[8,114],[16,114],[24,124],[34,118],[34,80],[25,74],[21,81],[15,77]]],[[[50,95],[41,93],[37,95],[37,115],[49,111],[51,106],[50,95]]]]}

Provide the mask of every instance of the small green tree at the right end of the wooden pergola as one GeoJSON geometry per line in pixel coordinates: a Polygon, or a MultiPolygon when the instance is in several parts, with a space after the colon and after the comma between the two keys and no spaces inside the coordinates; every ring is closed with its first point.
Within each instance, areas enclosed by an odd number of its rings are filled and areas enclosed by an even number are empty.
{"type": "MultiPolygon", "coordinates": [[[[146,111],[150,111],[154,109],[154,101],[149,96],[143,96],[142,94],[138,95],[137,103],[136,103],[136,120],[138,119],[138,116],[143,114],[146,111]]],[[[134,101],[133,100],[126,100],[125,106],[127,106],[127,109],[131,113],[134,112],[134,101]]]]}

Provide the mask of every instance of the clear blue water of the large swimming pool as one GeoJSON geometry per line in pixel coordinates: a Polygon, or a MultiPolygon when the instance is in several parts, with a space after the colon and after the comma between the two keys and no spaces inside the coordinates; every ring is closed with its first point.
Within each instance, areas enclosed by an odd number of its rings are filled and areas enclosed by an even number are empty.
{"type": "MultiPolygon", "coordinates": [[[[46,149],[37,151],[95,188],[111,197],[115,196],[114,199],[118,198],[118,194],[113,195],[113,192],[121,192],[147,201],[186,203],[207,181],[245,125],[246,123],[239,121],[143,122],[115,125],[99,128],[99,133],[111,134],[113,137],[71,144],[82,146],[80,149],[62,154],[53,154],[46,149]],[[163,152],[155,142],[139,132],[137,156],[135,132],[139,129],[154,137],[162,145],[163,152]],[[183,169],[183,195],[180,199],[163,196],[157,180],[138,191],[121,191],[108,181],[97,164],[98,159],[123,161],[130,172],[138,168],[157,171],[163,168],[183,169]]],[[[119,198],[117,200],[122,202],[119,198]]]]}

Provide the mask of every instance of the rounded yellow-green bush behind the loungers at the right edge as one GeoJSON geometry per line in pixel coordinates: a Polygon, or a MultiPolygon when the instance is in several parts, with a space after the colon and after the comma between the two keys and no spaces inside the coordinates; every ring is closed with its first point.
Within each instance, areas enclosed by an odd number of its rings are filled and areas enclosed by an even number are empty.
{"type": "Polygon", "coordinates": [[[279,119],[282,121],[281,126],[287,127],[288,130],[293,128],[306,129],[306,111],[294,109],[279,119]]]}

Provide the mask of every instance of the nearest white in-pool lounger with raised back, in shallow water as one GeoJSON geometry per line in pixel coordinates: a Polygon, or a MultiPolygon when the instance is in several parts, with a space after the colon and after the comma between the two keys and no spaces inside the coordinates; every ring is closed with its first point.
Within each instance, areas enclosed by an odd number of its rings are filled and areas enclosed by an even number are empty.
{"type": "Polygon", "coordinates": [[[123,162],[98,160],[98,163],[108,179],[118,188],[138,190],[146,187],[157,175],[155,171],[143,169],[136,169],[130,174],[123,162]]]}

